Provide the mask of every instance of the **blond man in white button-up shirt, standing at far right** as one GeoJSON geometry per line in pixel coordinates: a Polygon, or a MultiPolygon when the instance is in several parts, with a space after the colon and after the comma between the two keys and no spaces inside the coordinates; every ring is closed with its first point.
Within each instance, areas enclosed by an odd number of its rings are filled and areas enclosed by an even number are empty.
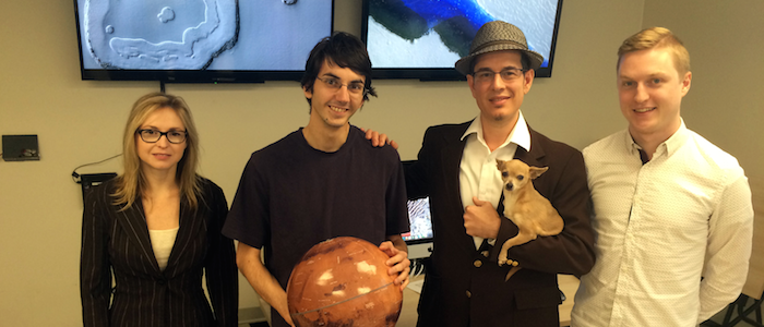
{"type": "Polygon", "coordinates": [[[691,80],[688,51],[666,28],[619,49],[629,128],[584,149],[597,262],[572,326],[697,326],[740,294],[751,191],[735,157],[685,128],[691,80]]]}

